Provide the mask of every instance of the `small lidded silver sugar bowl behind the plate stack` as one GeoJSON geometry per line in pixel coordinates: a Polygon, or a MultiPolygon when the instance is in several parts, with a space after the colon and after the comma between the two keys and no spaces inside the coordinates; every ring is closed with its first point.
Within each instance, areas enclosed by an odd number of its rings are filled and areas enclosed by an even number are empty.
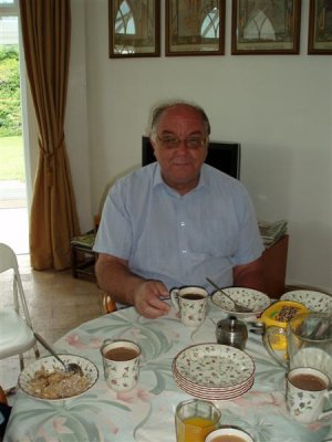
{"type": "Polygon", "coordinates": [[[218,322],[216,337],[218,344],[243,350],[248,339],[248,329],[242,320],[239,320],[236,316],[229,316],[218,322]]]}

